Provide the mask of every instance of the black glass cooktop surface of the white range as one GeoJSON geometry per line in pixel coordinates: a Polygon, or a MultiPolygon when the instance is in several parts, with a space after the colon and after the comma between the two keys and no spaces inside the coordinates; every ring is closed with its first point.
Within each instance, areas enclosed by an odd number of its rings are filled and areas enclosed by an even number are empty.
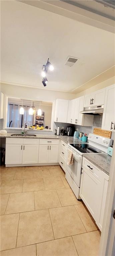
{"type": "Polygon", "coordinates": [[[89,144],[70,144],[72,147],[80,151],[81,153],[104,153],[103,151],[92,147],[89,144]]]}

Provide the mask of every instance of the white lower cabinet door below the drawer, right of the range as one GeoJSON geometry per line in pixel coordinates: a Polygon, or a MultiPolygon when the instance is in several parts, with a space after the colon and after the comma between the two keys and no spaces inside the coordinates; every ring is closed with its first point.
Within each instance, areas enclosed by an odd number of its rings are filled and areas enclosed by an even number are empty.
{"type": "Polygon", "coordinates": [[[80,197],[95,220],[98,211],[99,184],[100,181],[83,167],[80,184],[80,197]]]}

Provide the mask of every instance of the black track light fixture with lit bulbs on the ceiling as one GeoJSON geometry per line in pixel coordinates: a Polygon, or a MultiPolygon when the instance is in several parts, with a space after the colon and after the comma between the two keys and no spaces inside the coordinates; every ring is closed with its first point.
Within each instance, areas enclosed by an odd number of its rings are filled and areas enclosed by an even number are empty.
{"type": "Polygon", "coordinates": [[[42,75],[42,77],[43,77],[42,83],[43,83],[44,86],[46,86],[46,83],[48,82],[48,80],[47,80],[47,78],[46,78],[46,74],[47,74],[47,72],[48,72],[48,69],[51,70],[51,71],[54,70],[54,67],[53,67],[52,64],[49,62],[49,58],[48,58],[48,61],[47,61],[46,65],[43,65],[43,67],[42,67],[42,73],[41,73],[41,75],[42,75]]]}

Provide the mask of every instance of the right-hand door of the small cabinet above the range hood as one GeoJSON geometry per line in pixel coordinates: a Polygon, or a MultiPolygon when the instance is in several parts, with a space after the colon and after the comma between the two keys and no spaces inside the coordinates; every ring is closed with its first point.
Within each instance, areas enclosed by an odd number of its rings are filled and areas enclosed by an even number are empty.
{"type": "Polygon", "coordinates": [[[104,105],[104,99],[105,99],[105,88],[102,90],[98,90],[94,94],[94,100],[92,101],[92,104],[97,105],[104,105]]]}

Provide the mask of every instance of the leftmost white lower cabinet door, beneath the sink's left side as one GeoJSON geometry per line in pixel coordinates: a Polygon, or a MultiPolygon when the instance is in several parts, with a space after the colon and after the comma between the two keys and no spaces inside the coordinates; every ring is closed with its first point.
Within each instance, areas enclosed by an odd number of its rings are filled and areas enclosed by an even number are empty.
{"type": "Polygon", "coordinates": [[[22,164],[21,144],[6,144],[5,164],[22,164]]]}

